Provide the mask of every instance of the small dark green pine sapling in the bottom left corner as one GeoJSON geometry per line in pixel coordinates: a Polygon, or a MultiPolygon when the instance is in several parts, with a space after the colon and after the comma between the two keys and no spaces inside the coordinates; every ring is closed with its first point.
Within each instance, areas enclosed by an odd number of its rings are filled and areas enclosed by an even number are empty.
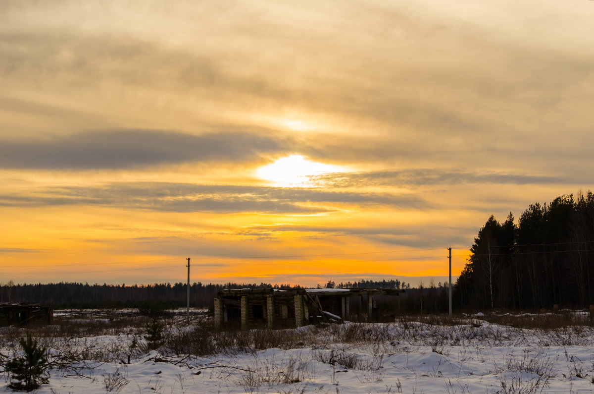
{"type": "Polygon", "coordinates": [[[27,333],[27,339],[21,338],[18,342],[23,348],[24,357],[15,357],[4,366],[4,369],[11,374],[11,383],[8,384],[8,388],[27,392],[39,389],[41,384],[49,383],[46,348],[37,346],[37,341],[31,339],[29,333],[27,333]]]}

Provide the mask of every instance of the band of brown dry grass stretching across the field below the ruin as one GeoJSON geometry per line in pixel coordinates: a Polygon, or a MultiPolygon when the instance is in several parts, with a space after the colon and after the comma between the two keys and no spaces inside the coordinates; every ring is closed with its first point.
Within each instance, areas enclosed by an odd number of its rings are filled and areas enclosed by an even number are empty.
{"type": "MultiPolygon", "coordinates": [[[[190,325],[179,317],[162,318],[165,326],[163,342],[157,350],[162,355],[194,355],[197,357],[239,353],[254,354],[270,348],[315,348],[339,351],[336,344],[376,346],[374,354],[398,351],[402,346],[429,346],[443,354],[451,346],[469,346],[481,342],[485,346],[527,345],[523,329],[541,330],[541,347],[592,345],[589,316],[563,312],[558,314],[488,315],[485,317],[450,318],[447,315],[399,317],[393,323],[330,324],[324,327],[301,329],[254,329],[247,331],[216,331],[212,320],[203,317],[190,325]],[[492,323],[492,324],[488,324],[492,323]],[[387,349],[386,346],[390,347],[387,349]]],[[[150,318],[116,317],[99,320],[68,320],[56,317],[52,326],[33,329],[2,327],[0,348],[18,348],[18,339],[27,331],[39,338],[39,343],[59,352],[68,359],[122,361],[139,357],[149,349],[143,334],[150,318]],[[95,337],[113,336],[105,341],[95,337]],[[96,343],[102,346],[95,346],[96,343]]],[[[321,356],[320,356],[321,357],[321,356]]],[[[349,362],[347,362],[349,364],[349,362]]],[[[343,364],[344,365],[344,364],[343,364]]]]}

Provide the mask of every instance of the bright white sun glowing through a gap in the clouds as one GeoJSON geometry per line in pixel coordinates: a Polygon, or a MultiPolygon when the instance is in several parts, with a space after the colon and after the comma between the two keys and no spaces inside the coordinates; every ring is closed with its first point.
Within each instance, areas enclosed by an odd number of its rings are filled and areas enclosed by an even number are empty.
{"type": "Polygon", "coordinates": [[[336,165],[309,161],[301,155],[292,155],[258,168],[257,175],[282,186],[295,186],[307,183],[308,176],[340,171],[345,170],[336,165]]]}

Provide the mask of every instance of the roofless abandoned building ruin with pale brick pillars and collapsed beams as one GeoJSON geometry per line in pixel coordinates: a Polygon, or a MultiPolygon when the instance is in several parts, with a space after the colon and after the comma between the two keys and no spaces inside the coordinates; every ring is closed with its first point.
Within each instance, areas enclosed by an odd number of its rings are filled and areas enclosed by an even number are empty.
{"type": "Polygon", "coordinates": [[[341,323],[351,316],[358,297],[364,319],[377,319],[376,295],[398,296],[396,289],[224,289],[214,299],[216,329],[293,328],[307,324],[341,323]]]}

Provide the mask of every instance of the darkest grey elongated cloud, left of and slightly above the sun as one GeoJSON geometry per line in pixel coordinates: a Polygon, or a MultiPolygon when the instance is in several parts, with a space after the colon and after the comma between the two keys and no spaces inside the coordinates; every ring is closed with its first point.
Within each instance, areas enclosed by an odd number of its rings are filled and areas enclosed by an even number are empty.
{"type": "Polygon", "coordinates": [[[4,140],[0,167],[48,170],[135,168],[201,161],[244,162],[287,151],[287,139],[241,132],[190,135],[160,130],[97,130],[44,140],[4,140]]]}

